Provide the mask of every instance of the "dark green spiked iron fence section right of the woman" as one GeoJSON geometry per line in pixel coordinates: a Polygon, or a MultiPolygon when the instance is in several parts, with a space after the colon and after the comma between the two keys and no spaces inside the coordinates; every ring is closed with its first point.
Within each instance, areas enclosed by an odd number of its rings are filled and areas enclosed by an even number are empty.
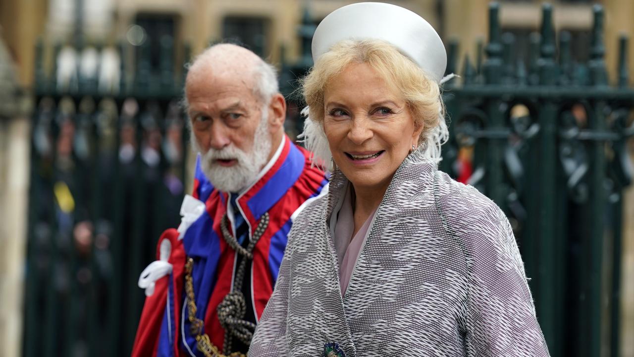
{"type": "MultiPolygon", "coordinates": [[[[451,140],[441,168],[459,177],[466,166],[466,181],[507,213],[552,356],[619,355],[634,89],[626,37],[619,39],[618,85],[608,85],[603,10],[593,13],[589,62],[571,58],[566,32],[557,46],[546,4],[525,65],[512,60],[513,36],[501,34],[498,5],[491,4],[486,60],[474,67],[467,58],[462,86],[444,93],[451,140]]],[[[450,44],[449,72],[456,46],[450,44]]]]}

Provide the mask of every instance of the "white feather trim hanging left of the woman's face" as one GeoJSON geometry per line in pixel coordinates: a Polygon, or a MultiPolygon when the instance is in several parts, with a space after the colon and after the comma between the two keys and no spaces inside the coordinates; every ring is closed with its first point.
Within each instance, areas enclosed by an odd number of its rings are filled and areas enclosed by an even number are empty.
{"type": "Polygon", "coordinates": [[[308,151],[313,152],[311,160],[313,165],[320,168],[333,171],[332,165],[332,153],[330,152],[330,146],[328,146],[328,139],[326,133],[323,131],[323,123],[313,121],[309,116],[309,107],[305,107],[301,111],[301,115],[304,116],[304,131],[297,135],[300,142],[303,142],[308,151]]]}

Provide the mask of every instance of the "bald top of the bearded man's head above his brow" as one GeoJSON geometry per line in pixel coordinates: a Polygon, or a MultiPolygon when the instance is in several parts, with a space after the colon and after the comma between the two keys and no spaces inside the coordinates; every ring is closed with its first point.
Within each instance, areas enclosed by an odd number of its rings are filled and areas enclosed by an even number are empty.
{"type": "Polygon", "coordinates": [[[252,51],[235,44],[216,44],[198,55],[188,70],[185,91],[193,79],[209,76],[241,81],[252,88],[254,95],[264,104],[279,92],[275,67],[252,51]]]}

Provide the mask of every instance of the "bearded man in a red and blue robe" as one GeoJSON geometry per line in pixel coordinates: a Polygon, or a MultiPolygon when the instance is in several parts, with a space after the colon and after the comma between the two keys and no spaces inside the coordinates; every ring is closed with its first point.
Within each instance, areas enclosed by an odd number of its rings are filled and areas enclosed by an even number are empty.
{"type": "Polygon", "coordinates": [[[159,239],[133,356],[242,356],[273,292],[292,221],[327,177],[283,131],[275,69],[217,44],[190,67],[185,97],[199,153],[183,223],[159,239]]]}

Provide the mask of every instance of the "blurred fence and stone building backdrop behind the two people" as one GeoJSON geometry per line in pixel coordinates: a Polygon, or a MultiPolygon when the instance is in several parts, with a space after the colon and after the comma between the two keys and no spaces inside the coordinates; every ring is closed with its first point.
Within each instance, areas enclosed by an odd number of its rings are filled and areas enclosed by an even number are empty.
{"type": "MultiPolygon", "coordinates": [[[[634,356],[634,1],[386,1],[448,49],[441,168],[505,213],[552,356],[634,356]]],[[[0,356],[131,351],[180,222],[184,64],[219,41],[296,79],[342,0],[0,0],[0,356]]]]}

